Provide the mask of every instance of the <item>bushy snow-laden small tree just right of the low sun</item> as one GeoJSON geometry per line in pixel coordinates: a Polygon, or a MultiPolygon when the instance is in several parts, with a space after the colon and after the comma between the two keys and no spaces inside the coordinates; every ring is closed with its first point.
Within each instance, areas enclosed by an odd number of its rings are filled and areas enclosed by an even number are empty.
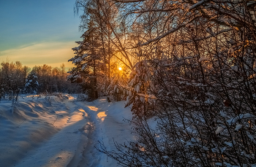
{"type": "Polygon", "coordinates": [[[151,80],[151,74],[156,72],[154,66],[157,66],[156,62],[140,61],[129,74],[126,106],[132,104],[134,117],[154,115],[156,97],[151,93],[156,89],[151,80]]]}

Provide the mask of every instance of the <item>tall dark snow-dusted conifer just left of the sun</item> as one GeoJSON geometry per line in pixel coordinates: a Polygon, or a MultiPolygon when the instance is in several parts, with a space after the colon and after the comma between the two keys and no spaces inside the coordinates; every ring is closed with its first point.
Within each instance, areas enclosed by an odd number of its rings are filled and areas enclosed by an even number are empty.
{"type": "Polygon", "coordinates": [[[97,78],[101,77],[102,68],[102,55],[99,39],[99,28],[90,20],[88,29],[81,36],[83,41],[76,42],[78,47],[72,48],[75,51],[75,57],[69,59],[75,63],[75,68],[69,71],[71,75],[69,80],[72,82],[81,82],[83,78],[83,89],[89,92],[92,99],[98,98],[97,92],[97,78]]]}

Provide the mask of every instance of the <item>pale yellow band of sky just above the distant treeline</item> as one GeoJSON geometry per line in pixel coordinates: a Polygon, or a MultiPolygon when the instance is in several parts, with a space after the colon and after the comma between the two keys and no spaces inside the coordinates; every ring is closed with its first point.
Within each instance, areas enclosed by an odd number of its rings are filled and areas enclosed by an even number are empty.
{"type": "Polygon", "coordinates": [[[20,61],[23,66],[48,66],[59,67],[64,63],[66,70],[74,67],[72,62],[67,62],[74,52],[71,50],[75,46],[75,42],[42,42],[4,50],[0,53],[0,63],[2,61],[20,61]]]}

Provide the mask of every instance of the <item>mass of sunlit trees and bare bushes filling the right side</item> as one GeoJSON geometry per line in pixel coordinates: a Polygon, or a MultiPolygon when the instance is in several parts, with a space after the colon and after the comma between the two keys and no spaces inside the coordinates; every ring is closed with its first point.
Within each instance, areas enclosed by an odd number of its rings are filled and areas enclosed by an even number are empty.
{"type": "Polygon", "coordinates": [[[256,2],[77,0],[70,80],[132,106],[121,166],[256,166],[256,2]],[[121,68],[121,70],[119,70],[121,68]],[[154,117],[155,127],[148,125],[154,117]]]}

